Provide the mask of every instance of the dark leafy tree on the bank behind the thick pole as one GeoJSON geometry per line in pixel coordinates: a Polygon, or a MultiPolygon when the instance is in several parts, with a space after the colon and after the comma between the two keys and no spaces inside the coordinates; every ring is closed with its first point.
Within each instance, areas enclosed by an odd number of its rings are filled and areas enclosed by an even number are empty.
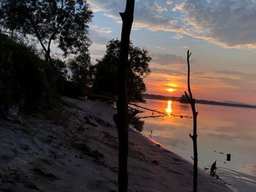
{"type": "MultiPolygon", "coordinates": [[[[112,39],[106,47],[107,50],[104,57],[101,60],[97,60],[97,64],[94,66],[93,88],[97,93],[116,96],[121,42],[118,39],[112,39]]],[[[148,68],[149,61],[151,61],[151,57],[148,55],[148,51],[140,47],[134,47],[132,42],[130,42],[129,67],[127,70],[127,95],[129,100],[143,101],[142,93],[146,91],[143,78],[151,72],[148,68]]]]}

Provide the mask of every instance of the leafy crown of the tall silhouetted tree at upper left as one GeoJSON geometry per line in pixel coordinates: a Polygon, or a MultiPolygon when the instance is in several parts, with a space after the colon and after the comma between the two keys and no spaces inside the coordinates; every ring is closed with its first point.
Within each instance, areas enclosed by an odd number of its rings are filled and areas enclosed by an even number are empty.
{"type": "Polygon", "coordinates": [[[92,12],[84,0],[1,0],[2,28],[36,37],[45,58],[53,66],[50,45],[55,42],[64,52],[78,53],[91,44],[88,23],[92,12]]]}

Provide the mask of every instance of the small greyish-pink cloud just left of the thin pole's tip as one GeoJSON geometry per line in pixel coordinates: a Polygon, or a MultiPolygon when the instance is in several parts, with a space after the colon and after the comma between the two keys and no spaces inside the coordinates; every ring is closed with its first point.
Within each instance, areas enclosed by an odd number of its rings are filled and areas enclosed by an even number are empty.
{"type": "Polygon", "coordinates": [[[186,60],[178,55],[166,53],[152,53],[152,62],[160,65],[186,64],[186,60]]]}

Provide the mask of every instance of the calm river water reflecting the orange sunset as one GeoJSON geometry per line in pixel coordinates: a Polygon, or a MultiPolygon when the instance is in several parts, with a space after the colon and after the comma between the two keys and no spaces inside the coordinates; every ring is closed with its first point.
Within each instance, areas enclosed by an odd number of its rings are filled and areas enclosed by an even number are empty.
{"type": "MultiPolygon", "coordinates": [[[[178,101],[147,99],[148,107],[175,115],[192,116],[189,104],[178,101]],[[168,107],[169,105],[169,107],[168,107]]],[[[256,110],[240,107],[222,107],[196,104],[198,161],[201,168],[211,167],[217,160],[217,174],[241,192],[256,191],[256,110]],[[226,154],[231,161],[226,161],[226,154]]],[[[151,115],[144,112],[143,115],[151,115]]],[[[165,145],[168,149],[192,162],[192,118],[173,115],[164,118],[146,118],[143,134],[165,145]]]]}

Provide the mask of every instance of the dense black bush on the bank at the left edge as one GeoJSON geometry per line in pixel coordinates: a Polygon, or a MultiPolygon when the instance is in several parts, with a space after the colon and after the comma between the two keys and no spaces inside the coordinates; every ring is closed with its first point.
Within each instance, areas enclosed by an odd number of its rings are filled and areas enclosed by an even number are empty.
{"type": "Polygon", "coordinates": [[[53,93],[45,67],[33,47],[0,34],[1,110],[7,112],[10,105],[25,112],[45,107],[53,93]]]}

